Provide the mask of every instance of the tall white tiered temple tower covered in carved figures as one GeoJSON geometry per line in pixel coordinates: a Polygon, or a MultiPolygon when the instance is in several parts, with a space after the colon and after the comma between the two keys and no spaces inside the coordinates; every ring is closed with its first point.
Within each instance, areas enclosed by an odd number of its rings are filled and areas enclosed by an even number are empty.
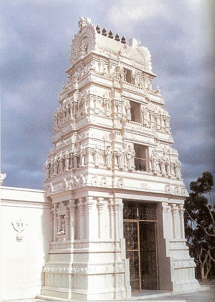
{"type": "Polygon", "coordinates": [[[53,241],[41,294],[197,289],[184,238],[187,191],[149,50],[80,18],[66,73],[45,163],[53,241]]]}

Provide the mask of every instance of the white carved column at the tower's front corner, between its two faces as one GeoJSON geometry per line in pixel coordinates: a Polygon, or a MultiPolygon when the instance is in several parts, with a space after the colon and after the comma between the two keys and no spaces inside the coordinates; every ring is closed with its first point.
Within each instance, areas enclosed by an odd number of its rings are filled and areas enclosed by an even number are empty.
{"type": "Polygon", "coordinates": [[[86,221],[86,238],[89,239],[89,241],[93,240],[95,238],[96,234],[96,228],[95,228],[95,219],[93,215],[93,205],[95,201],[93,200],[93,196],[86,197],[85,202],[85,221],[86,221]]]}

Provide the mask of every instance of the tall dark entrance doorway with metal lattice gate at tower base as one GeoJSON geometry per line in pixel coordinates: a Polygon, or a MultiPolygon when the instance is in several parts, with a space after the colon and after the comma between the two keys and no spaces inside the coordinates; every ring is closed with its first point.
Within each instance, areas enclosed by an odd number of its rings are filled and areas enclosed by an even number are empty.
{"type": "Polygon", "coordinates": [[[158,290],[156,204],[123,201],[123,233],[131,292],[158,290]]]}

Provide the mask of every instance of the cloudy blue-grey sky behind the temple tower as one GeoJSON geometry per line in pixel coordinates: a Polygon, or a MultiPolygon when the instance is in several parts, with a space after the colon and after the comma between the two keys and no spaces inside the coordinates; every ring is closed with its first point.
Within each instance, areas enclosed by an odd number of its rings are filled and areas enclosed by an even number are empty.
{"type": "Polygon", "coordinates": [[[5,186],[41,189],[53,114],[80,16],[152,55],[188,188],[214,172],[213,0],[2,0],[1,123],[5,186]]]}

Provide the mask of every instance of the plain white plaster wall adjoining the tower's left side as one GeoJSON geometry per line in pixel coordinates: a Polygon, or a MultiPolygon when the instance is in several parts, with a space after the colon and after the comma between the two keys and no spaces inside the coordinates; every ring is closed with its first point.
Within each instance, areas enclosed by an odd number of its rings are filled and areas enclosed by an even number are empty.
{"type": "Polygon", "coordinates": [[[50,204],[43,191],[1,187],[2,300],[33,298],[44,283],[42,268],[51,240],[50,204]],[[12,222],[27,224],[22,239],[12,222]]]}

